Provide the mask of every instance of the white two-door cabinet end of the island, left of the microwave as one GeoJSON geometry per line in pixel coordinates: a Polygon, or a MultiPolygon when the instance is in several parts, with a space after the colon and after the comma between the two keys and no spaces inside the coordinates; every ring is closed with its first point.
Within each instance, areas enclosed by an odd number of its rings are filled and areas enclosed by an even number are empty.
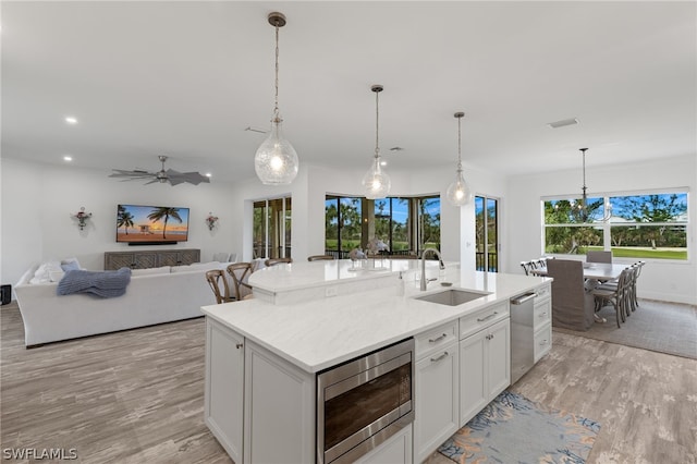
{"type": "Polygon", "coordinates": [[[206,331],[204,417],[230,457],[314,462],[315,376],[211,318],[206,331]]]}

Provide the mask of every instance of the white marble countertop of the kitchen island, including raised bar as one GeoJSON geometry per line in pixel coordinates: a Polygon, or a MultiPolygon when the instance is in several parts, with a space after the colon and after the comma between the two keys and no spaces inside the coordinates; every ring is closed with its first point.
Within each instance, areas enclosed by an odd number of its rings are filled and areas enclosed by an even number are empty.
{"type": "MultiPolygon", "coordinates": [[[[317,262],[321,261],[315,264],[317,262]]],[[[413,276],[405,279],[405,295],[396,295],[396,276],[400,270],[404,270],[400,268],[404,266],[415,269],[418,260],[395,260],[386,271],[351,274],[344,274],[341,266],[339,270],[334,266],[333,273],[327,271],[332,269],[332,261],[325,262],[326,266],[316,266],[315,270],[309,270],[311,266],[295,265],[292,265],[295,267],[290,272],[288,269],[281,271],[281,268],[267,268],[259,272],[255,283],[265,282],[268,290],[295,289],[327,281],[335,282],[337,279],[370,279],[375,272],[392,272],[394,280],[391,285],[379,290],[293,305],[273,305],[261,300],[247,300],[204,306],[201,310],[208,317],[303,370],[317,373],[486,306],[506,301],[551,280],[493,272],[460,272],[460,269],[450,267],[441,273],[440,280],[452,282],[452,288],[490,294],[458,306],[447,306],[415,300],[414,296],[440,292],[447,288],[439,285],[439,282],[431,282],[426,292],[420,292],[413,276]],[[321,273],[317,270],[319,268],[325,269],[325,278],[313,282],[313,276],[319,278],[321,273]],[[261,278],[267,270],[269,272],[261,278]],[[292,277],[295,273],[296,280],[292,277]]]]}

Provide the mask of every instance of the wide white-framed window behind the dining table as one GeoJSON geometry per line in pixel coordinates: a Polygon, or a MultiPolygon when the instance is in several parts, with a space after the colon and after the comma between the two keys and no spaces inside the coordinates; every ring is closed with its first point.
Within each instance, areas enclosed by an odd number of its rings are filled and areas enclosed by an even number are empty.
{"type": "Polygon", "coordinates": [[[545,253],[612,251],[615,257],[687,259],[687,192],[608,195],[578,200],[549,198],[545,253]]]}

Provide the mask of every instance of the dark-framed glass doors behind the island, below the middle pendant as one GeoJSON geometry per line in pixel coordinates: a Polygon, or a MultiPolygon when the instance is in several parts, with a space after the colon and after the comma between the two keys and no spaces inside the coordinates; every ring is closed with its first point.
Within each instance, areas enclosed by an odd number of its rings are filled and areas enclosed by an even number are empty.
{"type": "Polygon", "coordinates": [[[344,258],[379,237],[390,255],[417,254],[424,247],[440,249],[440,197],[362,197],[327,195],[325,248],[344,258]]]}

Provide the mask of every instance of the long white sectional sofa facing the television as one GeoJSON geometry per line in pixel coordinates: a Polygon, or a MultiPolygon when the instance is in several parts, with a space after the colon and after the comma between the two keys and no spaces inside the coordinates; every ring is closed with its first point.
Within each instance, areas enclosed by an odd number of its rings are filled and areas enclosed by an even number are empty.
{"type": "MultiPolygon", "coordinates": [[[[216,304],[206,271],[229,262],[134,270],[123,296],[101,298],[87,293],[59,296],[56,281],[38,283],[39,266],[27,270],[14,288],[27,347],[78,337],[151,326],[203,316],[216,304]]],[[[60,272],[59,272],[60,274],[60,272]]]]}

